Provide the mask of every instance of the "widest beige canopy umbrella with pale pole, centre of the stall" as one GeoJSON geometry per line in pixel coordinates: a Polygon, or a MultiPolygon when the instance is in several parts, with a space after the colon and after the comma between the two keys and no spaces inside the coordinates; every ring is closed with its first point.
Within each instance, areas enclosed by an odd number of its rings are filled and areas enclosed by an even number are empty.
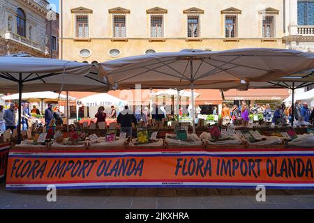
{"type": "MultiPolygon", "coordinates": [[[[314,56],[288,49],[232,49],[221,52],[185,49],[101,63],[100,75],[113,89],[142,88],[241,89],[314,68],[314,56]]],[[[195,132],[194,100],[192,100],[195,132]]]]}

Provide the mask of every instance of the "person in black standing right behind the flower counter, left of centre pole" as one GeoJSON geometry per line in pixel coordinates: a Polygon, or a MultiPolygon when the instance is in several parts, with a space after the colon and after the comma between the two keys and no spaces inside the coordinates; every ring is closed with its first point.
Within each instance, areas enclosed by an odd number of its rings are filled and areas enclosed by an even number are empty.
{"type": "Polygon", "coordinates": [[[126,132],[128,137],[132,137],[132,123],[137,125],[137,120],[133,112],[128,110],[128,105],[124,106],[124,109],[119,113],[117,123],[120,124],[120,132],[126,132]]]}

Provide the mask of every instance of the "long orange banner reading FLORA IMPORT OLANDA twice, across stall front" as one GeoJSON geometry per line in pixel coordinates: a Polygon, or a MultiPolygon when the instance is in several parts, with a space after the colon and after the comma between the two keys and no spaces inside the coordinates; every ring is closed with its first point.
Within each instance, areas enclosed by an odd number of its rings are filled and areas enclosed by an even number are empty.
{"type": "Polygon", "coordinates": [[[11,151],[7,189],[314,188],[313,149],[11,151]]]}

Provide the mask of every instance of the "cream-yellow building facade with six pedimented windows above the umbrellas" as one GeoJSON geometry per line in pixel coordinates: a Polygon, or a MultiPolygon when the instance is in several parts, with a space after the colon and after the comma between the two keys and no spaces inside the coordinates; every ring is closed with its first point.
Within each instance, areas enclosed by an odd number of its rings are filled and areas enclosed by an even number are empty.
{"type": "Polygon", "coordinates": [[[281,0],[66,0],[60,58],[103,62],[182,49],[285,48],[281,0]]]}

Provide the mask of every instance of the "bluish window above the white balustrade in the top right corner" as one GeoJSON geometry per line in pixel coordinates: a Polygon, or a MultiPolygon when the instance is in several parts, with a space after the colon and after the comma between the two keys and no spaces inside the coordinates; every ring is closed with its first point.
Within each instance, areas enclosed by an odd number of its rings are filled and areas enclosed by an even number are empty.
{"type": "Polygon", "coordinates": [[[298,24],[300,26],[314,25],[314,1],[299,0],[298,1],[298,24]]]}

